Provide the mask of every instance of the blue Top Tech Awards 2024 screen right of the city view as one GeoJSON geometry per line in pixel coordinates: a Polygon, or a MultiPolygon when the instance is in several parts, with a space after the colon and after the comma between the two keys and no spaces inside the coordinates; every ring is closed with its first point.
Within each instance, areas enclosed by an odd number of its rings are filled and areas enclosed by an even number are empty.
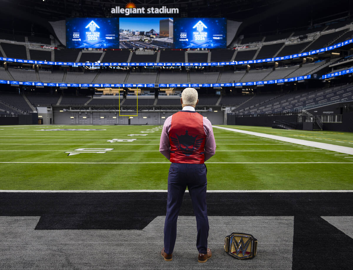
{"type": "Polygon", "coordinates": [[[226,18],[174,18],[174,48],[226,48],[226,18]]]}

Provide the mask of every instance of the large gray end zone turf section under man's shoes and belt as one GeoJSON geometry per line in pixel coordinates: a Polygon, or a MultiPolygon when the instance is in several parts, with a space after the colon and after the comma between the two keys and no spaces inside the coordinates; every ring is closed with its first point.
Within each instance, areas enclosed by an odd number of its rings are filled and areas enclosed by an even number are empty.
{"type": "Polygon", "coordinates": [[[293,216],[210,216],[213,256],[197,262],[196,220],[180,216],[173,260],[161,257],[164,216],[143,230],[35,230],[39,217],[0,216],[0,269],[292,269],[293,216]],[[237,260],[224,237],[250,233],[258,255],[237,260]]]}

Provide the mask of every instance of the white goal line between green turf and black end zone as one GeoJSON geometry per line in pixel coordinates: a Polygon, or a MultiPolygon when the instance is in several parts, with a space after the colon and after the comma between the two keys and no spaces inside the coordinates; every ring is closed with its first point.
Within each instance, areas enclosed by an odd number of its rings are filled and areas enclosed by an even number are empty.
{"type": "MultiPolygon", "coordinates": [[[[21,193],[122,193],[122,192],[168,192],[166,189],[136,189],[136,190],[0,190],[0,192],[21,192],[21,193]]],[[[189,192],[189,190],[185,190],[189,192]]],[[[207,190],[207,193],[319,193],[319,192],[353,192],[353,190],[207,190]]]]}

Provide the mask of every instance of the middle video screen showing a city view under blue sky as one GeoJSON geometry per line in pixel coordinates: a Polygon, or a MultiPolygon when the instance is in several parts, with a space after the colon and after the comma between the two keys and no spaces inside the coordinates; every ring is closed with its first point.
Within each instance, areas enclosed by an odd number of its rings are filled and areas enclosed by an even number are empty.
{"type": "Polygon", "coordinates": [[[173,18],[120,18],[120,49],[173,48],[173,18]]]}

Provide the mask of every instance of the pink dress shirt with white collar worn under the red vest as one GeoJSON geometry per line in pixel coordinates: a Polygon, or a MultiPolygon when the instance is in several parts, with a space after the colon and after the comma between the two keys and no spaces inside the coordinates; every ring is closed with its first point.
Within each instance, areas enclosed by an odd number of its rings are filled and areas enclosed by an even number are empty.
{"type": "MultiPolygon", "coordinates": [[[[195,111],[192,106],[184,106],[183,111],[195,111]]],[[[169,116],[164,122],[161,141],[159,144],[159,152],[161,152],[164,157],[170,159],[170,143],[169,143],[169,130],[172,124],[172,116],[169,116]]],[[[205,139],[205,161],[208,160],[216,153],[216,142],[213,135],[212,124],[209,119],[203,117],[203,130],[206,134],[205,139]]]]}

